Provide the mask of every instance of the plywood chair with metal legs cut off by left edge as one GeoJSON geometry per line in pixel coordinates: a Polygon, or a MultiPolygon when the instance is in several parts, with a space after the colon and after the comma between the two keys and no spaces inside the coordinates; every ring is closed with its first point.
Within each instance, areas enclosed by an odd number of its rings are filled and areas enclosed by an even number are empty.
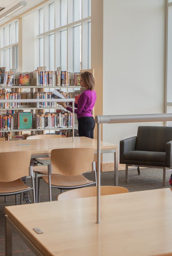
{"type": "Polygon", "coordinates": [[[22,204],[22,193],[32,190],[33,203],[35,203],[35,190],[33,181],[33,167],[30,165],[31,151],[3,152],[0,153],[0,196],[20,194],[22,204]],[[27,186],[21,177],[31,176],[32,187],[27,186]]]}

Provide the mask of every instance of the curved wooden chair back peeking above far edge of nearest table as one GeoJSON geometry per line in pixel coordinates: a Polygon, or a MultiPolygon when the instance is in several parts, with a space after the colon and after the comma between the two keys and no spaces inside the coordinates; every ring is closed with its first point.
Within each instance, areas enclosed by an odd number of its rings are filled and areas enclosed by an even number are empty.
{"type": "MultiPolygon", "coordinates": [[[[121,194],[128,193],[127,188],[123,187],[115,187],[115,186],[101,186],[100,187],[100,195],[113,195],[113,194],[121,194]]],[[[91,197],[97,196],[97,187],[87,187],[87,188],[77,188],[73,190],[66,191],[57,196],[57,200],[69,200],[75,198],[83,198],[83,197],[91,197]]]]}

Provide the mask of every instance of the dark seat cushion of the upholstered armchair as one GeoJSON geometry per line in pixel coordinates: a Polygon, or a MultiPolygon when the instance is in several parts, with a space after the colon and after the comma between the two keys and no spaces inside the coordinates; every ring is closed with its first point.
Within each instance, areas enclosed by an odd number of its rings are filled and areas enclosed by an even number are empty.
{"type": "Polygon", "coordinates": [[[124,164],[166,166],[166,152],[129,151],[124,155],[124,164]]]}

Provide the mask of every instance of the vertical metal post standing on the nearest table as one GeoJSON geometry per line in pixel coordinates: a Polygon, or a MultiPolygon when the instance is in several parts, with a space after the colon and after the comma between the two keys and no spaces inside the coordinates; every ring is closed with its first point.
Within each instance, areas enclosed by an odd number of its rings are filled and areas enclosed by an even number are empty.
{"type": "Polygon", "coordinates": [[[97,224],[100,224],[100,126],[97,124],[97,224]]]}

